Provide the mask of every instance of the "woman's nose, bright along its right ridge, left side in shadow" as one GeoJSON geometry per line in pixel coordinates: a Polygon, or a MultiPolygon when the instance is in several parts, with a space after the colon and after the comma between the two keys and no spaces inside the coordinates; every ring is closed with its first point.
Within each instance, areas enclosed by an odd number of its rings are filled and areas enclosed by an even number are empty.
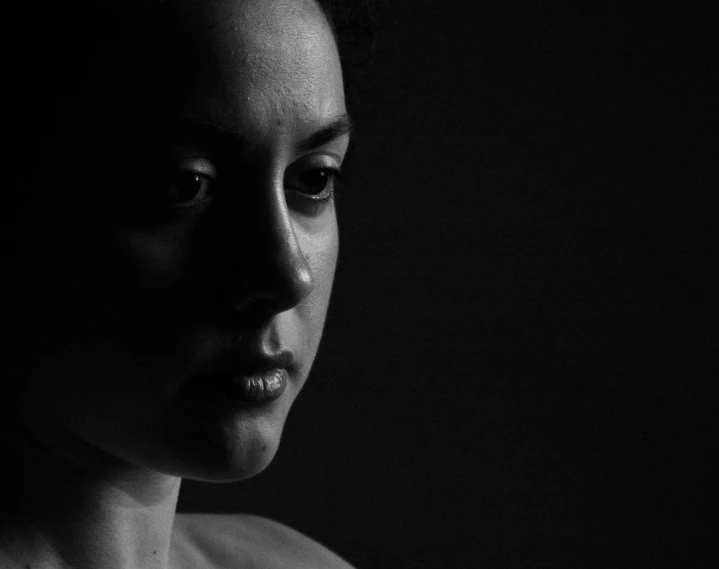
{"type": "Polygon", "coordinates": [[[222,215],[227,227],[222,231],[222,288],[237,315],[266,318],[298,305],[314,288],[314,279],[287,206],[283,179],[255,184],[253,195],[247,193],[239,203],[227,204],[227,215],[222,215]]]}

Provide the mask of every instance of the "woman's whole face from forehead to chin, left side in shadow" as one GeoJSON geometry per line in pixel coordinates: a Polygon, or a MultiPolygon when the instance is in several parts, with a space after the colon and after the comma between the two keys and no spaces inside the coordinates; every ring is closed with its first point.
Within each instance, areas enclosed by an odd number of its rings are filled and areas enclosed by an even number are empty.
{"type": "Polygon", "coordinates": [[[21,214],[25,417],[55,445],[241,479],[322,334],[342,76],[311,0],[164,6],[156,36],[118,27],[21,214]]]}

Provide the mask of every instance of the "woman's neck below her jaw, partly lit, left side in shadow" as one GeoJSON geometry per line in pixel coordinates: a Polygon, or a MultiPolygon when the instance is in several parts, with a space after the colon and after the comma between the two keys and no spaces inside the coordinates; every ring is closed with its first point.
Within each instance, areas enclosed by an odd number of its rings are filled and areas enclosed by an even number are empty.
{"type": "Polygon", "coordinates": [[[168,568],[180,478],[31,430],[4,446],[6,464],[20,468],[3,484],[12,496],[0,514],[0,561],[23,569],[168,568]]]}

